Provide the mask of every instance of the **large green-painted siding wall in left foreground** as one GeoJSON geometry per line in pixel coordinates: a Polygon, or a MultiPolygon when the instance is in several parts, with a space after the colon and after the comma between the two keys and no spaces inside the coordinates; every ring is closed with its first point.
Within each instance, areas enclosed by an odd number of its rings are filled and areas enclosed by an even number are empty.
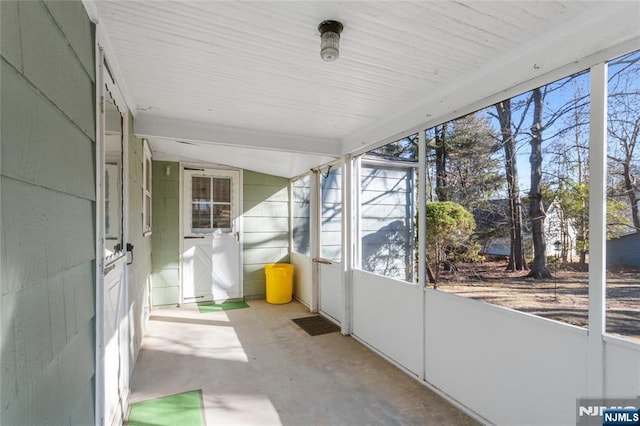
{"type": "Polygon", "coordinates": [[[0,40],[0,423],[93,424],[94,30],[1,1],[0,40]]]}

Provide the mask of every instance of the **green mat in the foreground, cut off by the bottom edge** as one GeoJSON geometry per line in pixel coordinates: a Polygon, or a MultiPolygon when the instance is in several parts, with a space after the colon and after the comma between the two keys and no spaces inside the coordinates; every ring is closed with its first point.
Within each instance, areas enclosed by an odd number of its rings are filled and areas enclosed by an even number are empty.
{"type": "Polygon", "coordinates": [[[131,405],[129,426],[204,426],[202,391],[179,393],[131,405]]]}

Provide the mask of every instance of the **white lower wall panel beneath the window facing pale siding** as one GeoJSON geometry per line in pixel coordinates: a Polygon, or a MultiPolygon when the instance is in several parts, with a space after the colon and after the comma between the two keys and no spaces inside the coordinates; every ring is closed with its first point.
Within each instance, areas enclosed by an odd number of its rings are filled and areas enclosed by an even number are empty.
{"type": "Polygon", "coordinates": [[[422,370],[422,289],[353,271],[352,334],[416,375],[422,370]]]}

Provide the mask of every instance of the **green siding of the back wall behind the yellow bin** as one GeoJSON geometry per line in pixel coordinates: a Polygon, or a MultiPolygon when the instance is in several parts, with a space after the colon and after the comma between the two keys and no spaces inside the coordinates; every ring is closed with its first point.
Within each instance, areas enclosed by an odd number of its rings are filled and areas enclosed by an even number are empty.
{"type": "Polygon", "coordinates": [[[289,180],[244,171],[244,297],[264,298],[264,265],[289,262],[289,180]]]}

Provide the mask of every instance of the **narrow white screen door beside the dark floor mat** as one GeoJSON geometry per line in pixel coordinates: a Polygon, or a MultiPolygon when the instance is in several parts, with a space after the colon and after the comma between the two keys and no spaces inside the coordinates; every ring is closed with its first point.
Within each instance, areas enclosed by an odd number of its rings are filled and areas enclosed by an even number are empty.
{"type": "Polygon", "coordinates": [[[342,244],[342,168],[333,166],[320,172],[319,254],[320,312],[342,323],[344,316],[344,266],[342,244]]]}

